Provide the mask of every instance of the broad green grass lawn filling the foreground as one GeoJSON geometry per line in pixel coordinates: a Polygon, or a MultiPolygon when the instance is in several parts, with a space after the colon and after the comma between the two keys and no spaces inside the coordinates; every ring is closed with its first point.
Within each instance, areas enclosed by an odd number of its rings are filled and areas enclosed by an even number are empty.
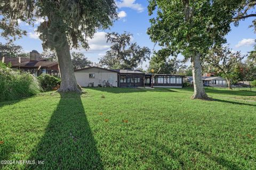
{"type": "Polygon", "coordinates": [[[84,89],[0,103],[0,169],[256,169],[256,92],[84,89]],[[1,142],[2,141],[2,142],[1,142]]]}

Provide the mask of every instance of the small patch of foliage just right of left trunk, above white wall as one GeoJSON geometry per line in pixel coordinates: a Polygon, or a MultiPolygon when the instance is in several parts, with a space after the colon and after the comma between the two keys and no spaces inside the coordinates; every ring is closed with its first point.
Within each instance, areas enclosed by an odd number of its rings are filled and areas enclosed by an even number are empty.
{"type": "Polygon", "coordinates": [[[73,52],[71,55],[72,55],[71,60],[72,60],[74,70],[82,69],[84,67],[87,67],[93,64],[90,60],[87,60],[87,57],[85,57],[83,53],[73,52]]]}

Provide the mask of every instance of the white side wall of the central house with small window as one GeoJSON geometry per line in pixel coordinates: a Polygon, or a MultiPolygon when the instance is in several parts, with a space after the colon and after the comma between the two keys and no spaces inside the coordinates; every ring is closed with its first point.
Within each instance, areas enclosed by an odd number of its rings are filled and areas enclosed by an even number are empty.
{"type": "Polygon", "coordinates": [[[82,87],[87,87],[89,83],[98,86],[98,84],[103,85],[103,81],[109,82],[112,86],[117,87],[117,73],[98,69],[91,68],[75,72],[76,81],[82,87]],[[94,73],[95,78],[89,78],[89,74],[94,73]]]}

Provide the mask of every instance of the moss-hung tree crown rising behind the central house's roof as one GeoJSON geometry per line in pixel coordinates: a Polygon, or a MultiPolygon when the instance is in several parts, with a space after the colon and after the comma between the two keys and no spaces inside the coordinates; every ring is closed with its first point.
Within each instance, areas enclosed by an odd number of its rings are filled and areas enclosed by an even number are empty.
{"type": "Polygon", "coordinates": [[[132,35],[124,32],[121,35],[116,32],[107,33],[107,42],[113,44],[100,58],[100,65],[109,69],[134,69],[143,61],[149,59],[150,49],[140,47],[137,43],[130,44],[132,35]]]}

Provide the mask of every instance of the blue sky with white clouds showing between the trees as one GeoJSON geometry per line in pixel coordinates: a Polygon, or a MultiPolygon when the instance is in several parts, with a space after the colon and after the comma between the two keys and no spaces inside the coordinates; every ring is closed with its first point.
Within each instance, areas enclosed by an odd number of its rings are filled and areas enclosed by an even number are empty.
{"type": "MultiPolygon", "coordinates": [[[[123,33],[124,31],[130,32],[133,35],[132,43],[137,42],[140,46],[149,47],[151,50],[158,50],[161,47],[156,46],[151,42],[146,31],[150,27],[149,19],[152,16],[148,15],[147,6],[148,1],[145,0],[117,0],[118,16],[119,20],[115,21],[113,26],[107,30],[97,30],[94,34],[93,39],[89,39],[89,50],[79,49],[76,52],[82,52],[85,56],[93,63],[98,63],[101,56],[105,55],[111,44],[106,42],[106,32],[118,32],[123,33]]],[[[15,41],[15,44],[23,47],[25,52],[30,52],[35,49],[39,53],[43,52],[42,41],[38,39],[37,33],[35,32],[39,23],[42,19],[38,19],[35,23],[34,28],[26,23],[20,23],[20,27],[23,30],[27,30],[27,36],[23,36],[21,39],[15,41]]],[[[226,36],[227,43],[233,51],[241,51],[241,54],[247,54],[253,50],[255,44],[254,39],[256,35],[253,32],[253,28],[249,28],[252,24],[252,18],[248,18],[244,21],[239,22],[239,26],[235,27],[231,24],[231,31],[226,36]]],[[[0,37],[0,42],[5,43],[5,40],[0,37]]],[[[74,50],[74,49],[73,49],[74,50]]],[[[182,56],[179,56],[182,59],[182,56]]],[[[148,62],[144,62],[141,66],[146,69],[148,62]]],[[[190,63],[187,63],[190,65],[190,63]]]]}

